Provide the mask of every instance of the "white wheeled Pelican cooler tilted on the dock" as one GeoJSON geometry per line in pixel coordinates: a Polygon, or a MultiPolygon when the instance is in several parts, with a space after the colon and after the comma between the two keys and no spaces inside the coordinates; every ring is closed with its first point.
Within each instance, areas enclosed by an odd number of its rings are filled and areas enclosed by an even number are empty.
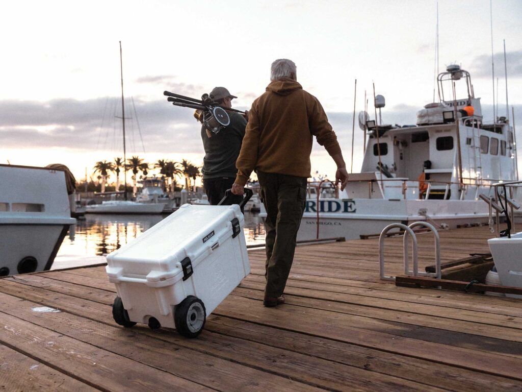
{"type": "Polygon", "coordinates": [[[243,227],[237,204],[184,204],[112,252],[106,271],[118,295],[114,320],[198,336],[206,317],[250,273],[243,227]]]}

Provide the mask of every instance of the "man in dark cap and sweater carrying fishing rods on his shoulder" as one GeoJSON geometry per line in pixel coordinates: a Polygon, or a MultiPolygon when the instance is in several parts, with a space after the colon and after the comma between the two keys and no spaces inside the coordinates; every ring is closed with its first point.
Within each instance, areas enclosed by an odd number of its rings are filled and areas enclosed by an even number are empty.
{"type": "MultiPolygon", "coordinates": [[[[209,94],[212,100],[219,102],[223,109],[232,107],[232,99],[238,98],[224,87],[215,87],[209,94]]],[[[230,124],[218,133],[212,133],[201,126],[201,140],[205,149],[203,158],[203,187],[212,205],[218,204],[225,191],[232,188],[238,169],[235,161],[245,136],[246,119],[239,113],[228,112],[230,124]]],[[[226,204],[239,204],[243,198],[231,195],[226,204]]]]}

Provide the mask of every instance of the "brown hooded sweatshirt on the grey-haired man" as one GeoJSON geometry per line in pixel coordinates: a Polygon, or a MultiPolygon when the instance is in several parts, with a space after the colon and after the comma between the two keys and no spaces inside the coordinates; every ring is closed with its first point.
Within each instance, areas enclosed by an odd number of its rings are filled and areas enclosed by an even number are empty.
{"type": "Polygon", "coordinates": [[[248,113],[235,182],[244,186],[254,169],[310,177],[313,136],[331,156],[341,153],[317,98],[293,79],[274,80],[248,113]]]}

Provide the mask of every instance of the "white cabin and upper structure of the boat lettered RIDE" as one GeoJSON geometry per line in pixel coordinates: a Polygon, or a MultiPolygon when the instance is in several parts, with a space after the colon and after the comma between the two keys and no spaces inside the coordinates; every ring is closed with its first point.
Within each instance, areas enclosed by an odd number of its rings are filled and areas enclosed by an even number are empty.
{"type": "Polygon", "coordinates": [[[420,110],[416,125],[367,122],[364,178],[350,176],[349,197],[477,200],[492,183],[516,179],[508,120],[483,123],[480,98],[459,66],[448,67],[437,79],[440,102],[420,110]],[[458,81],[465,82],[467,97],[445,97],[444,85],[458,81]],[[366,181],[378,184],[369,192],[366,181]]]}

